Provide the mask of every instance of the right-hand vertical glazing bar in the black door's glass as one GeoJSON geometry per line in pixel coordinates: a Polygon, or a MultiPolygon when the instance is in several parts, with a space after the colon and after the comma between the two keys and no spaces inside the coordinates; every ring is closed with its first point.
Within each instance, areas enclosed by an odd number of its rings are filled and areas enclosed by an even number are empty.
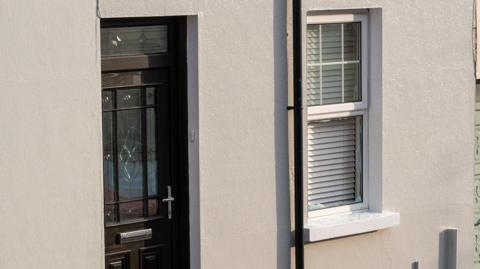
{"type": "MultiPolygon", "coordinates": [[[[140,90],[141,104],[147,105],[147,89],[140,90]]],[[[147,109],[142,108],[142,166],[143,166],[143,216],[148,216],[148,161],[147,161],[147,109]]]]}

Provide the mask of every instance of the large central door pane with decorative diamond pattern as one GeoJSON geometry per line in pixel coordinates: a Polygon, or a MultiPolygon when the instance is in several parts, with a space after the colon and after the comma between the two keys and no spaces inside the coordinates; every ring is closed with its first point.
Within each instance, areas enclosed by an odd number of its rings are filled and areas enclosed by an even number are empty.
{"type": "Polygon", "coordinates": [[[143,196],[142,111],[117,112],[120,200],[143,196]]]}

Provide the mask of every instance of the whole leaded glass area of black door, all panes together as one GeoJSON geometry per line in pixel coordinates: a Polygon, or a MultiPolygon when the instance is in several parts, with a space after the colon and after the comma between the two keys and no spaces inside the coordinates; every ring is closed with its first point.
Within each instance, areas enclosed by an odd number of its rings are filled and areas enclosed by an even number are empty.
{"type": "Polygon", "coordinates": [[[169,142],[159,148],[159,130],[168,137],[168,124],[159,129],[159,119],[168,121],[161,116],[166,111],[158,106],[157,87],[102,92],[106,223],[156,216],[160,210],[155,196],[167,174],[159,175],[158,151],[169,152],[169,142]]]}

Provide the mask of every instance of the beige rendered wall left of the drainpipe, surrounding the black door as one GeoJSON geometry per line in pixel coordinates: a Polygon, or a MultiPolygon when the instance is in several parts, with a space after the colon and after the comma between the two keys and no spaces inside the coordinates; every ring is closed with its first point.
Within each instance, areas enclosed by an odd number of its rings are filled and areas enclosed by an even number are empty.
{"type": "Polygon", "coordinates": [[[192,268],[287,268],[285,5],[99,2],[0,3],[0,268],[102,267],[97,15],[198,16],[192,268]]]}

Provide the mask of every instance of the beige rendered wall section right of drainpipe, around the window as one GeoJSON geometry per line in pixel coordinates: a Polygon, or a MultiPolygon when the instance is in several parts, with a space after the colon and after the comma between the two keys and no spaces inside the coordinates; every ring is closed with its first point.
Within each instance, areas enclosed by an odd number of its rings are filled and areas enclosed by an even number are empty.
{"type": "Polygon", "coordinates": [[[306,268],[442,268],[445,227],[459,229],[457,268],[472,268],[473,1],[304,3],[369,7],[383,13],[383,209],[401,225],[308,245],[306,268]]]}

